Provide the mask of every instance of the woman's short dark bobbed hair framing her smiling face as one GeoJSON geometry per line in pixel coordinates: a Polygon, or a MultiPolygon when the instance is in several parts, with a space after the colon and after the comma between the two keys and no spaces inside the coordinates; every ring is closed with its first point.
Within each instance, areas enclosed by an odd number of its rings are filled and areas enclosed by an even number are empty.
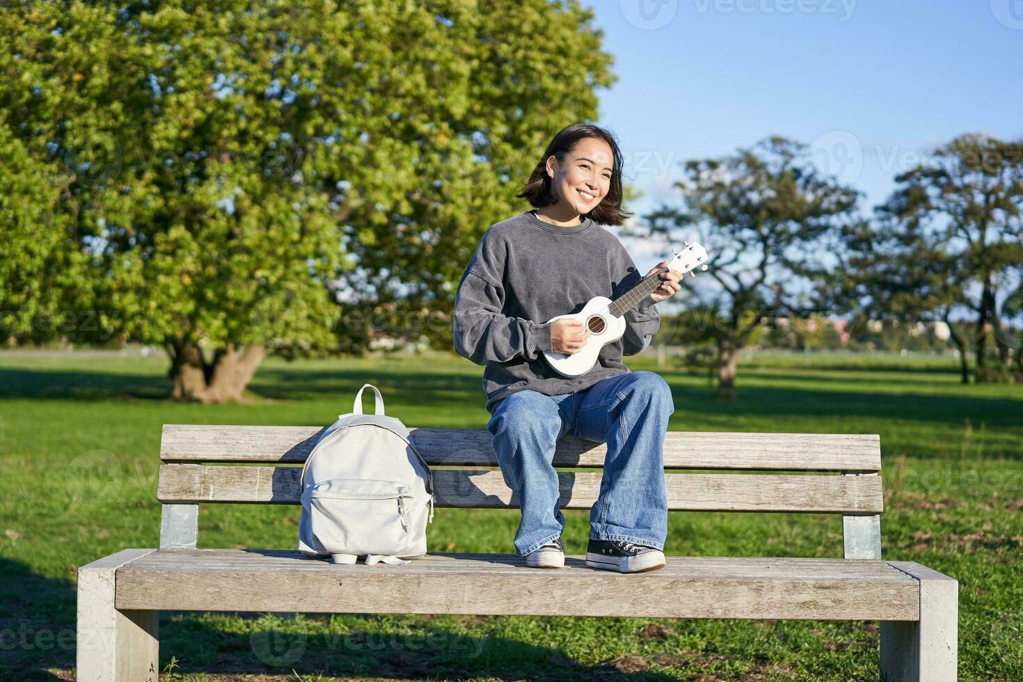
{"type": "Polygon", "coordinates": [[[559,164],[565,163],[566,156],[576,143],[587,137],[595,137],[607,142],[614,155],[614,164],[611,169],[608,195],[583,217],[602,225],[621,225],[625,219],[632,216],[622,211],[622,152],[618,149],[618,141],[610,131],[592,124],[574,123],[558,131],[554,139],[547,145],[547,150],[543,152],[540,163],[533,169],[533,173],[516,196],[528,200],[535,209],[558,203],[558,194],[551,185],[550,176],[547,175],[547,158],[553,155],[559,164]]]}

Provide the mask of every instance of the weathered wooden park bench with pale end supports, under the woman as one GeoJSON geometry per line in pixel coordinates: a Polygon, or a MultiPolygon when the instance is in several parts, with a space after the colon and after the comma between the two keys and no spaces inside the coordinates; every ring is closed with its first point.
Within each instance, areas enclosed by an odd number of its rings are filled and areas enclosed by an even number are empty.
{"type": "MultiPolygon", "coordinates": [[[[955,679],[957,581],[881,559],[877,436],[665,438],[666,468],[728,470],[666,472],[670,509],[842,514],[844,559],[669,556],[664,569],[625,575],[583,556],[545,571],[516,554],[367,566],[291,550],[196,549],[201,503],[298,504],[297,465],[320,431],[164,426],[160,549],[126,549],[78,571],[79,680],[155,682],[161,609],[880,621],[883,679],[955,679]]],[[[412,440],[434,467],[438,507],[518,506],[488,431],[418,428],[412,440]]],[[[555,466],[583,469],[559,472],[562,508],[596,501],[604,455],[603,444],[559,443],[555,466]]]]}

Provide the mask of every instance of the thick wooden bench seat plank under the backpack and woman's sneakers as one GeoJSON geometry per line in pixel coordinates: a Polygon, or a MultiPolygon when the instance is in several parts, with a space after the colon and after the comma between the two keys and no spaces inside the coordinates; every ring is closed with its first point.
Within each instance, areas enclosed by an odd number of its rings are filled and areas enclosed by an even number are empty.
{"type": "Polygon", "coordinates": [[[542,571],[515,554],[428,554],[392,566],[297,552],[177,550],[117,574],[124,609],[490,613],[911,621],[920,588],[884,561],[669,556],[624,575],[566,557],[542,571]],[[485,586],[482,587],[482,586],[485,586]]]}

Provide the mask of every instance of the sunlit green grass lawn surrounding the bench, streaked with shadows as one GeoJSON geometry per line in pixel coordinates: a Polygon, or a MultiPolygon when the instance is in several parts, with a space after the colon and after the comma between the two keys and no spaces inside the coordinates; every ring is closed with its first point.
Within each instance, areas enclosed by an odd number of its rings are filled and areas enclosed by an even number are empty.
{"type": "MultiPolygon", "coordinates": [[[[880,434],[885,558],[960,581],[961,679],[1023,679],[1023,387],[962,385],[950,359],[762,354],[722,403],[705,377],[628,360],[671,384],[673,430],[880,434]]],[[[366,381],[408,425],[489,416],[482,368],[453,355],[270,359],[252,405],[171,403],[166,370],[0,353],[0,666],[17,679],[72,679],[76,566],[157,546],[162,424],[323,425],[366,381]]],[[[438,510],[430,549],[510,553],[518,513],[438,510]]],[[[587,513],[565,511],[569,553],[585,551],[587,513]]],[[[297,521],[297,508],[207,505],[199,546],[292,548],[297,521]]],[[[841,549],[830,515],[672,512],[666,553],[841,549]]],[[[161,666],[171,680],[877,680],[878,641],[865,622],[165,612],[161,666]]]]}

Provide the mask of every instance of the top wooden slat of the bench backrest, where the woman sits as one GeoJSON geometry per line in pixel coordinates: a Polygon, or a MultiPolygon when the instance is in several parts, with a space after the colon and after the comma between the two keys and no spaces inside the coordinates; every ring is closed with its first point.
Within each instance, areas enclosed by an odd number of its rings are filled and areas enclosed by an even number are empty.
{"type": "MultiPolygon", "coordinates": [[[[165,424],[160,456],[166,462],[302,463],[320,426],[165,424]]],[[[486,429],[410,428],[430,465],[497,466],[486,429]]],[[[555,466],[603,466],[603,443],[566,436],[555,466]]],[[[664,465],[669,468],[879,471],[876,435],[724,434],[668,431],[664,465]]]]}

